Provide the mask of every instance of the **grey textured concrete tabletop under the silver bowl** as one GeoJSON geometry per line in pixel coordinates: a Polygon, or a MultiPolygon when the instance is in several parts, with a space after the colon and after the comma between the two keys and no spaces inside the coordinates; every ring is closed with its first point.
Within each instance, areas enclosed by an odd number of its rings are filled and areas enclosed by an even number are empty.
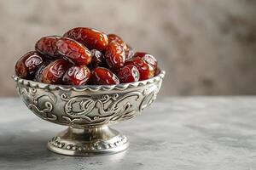
{"type": "Polygon", "coordinates": [[[40,120],[20,99],[0,99],[0,169],[256,169],[256,98],[157,99],[115,126],[130,148],[112,156],[61,156],[47,140],[66,127],[40,120]]]}

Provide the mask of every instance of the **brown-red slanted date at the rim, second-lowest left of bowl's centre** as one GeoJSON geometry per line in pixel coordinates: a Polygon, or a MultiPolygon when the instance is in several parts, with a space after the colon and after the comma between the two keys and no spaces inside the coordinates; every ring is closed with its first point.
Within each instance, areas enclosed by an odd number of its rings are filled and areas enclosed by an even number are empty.
{"type": "Polygon", "coordinates": [[[60,84],[62,82],[62,76],[69,67],[70,63],[66,59],[56,59],[42,71],[42,82],[60,84]]]}

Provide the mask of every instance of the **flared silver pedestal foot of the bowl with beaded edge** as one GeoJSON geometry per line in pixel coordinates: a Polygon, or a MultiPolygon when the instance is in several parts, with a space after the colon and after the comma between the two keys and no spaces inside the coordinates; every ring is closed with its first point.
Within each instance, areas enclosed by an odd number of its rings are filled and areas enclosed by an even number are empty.
{"type": "Polygon", "coordinates": [[[126,150],[128,146],[128,139],[108,126],[68,127],[47,144],[49,150],[67,156],[102,156],[126,150]]]}

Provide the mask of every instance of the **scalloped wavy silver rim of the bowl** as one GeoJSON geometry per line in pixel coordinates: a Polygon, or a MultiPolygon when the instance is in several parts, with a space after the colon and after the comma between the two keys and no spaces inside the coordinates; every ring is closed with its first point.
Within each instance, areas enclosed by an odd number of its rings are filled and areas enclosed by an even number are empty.
{"type": "Polygon", "coordinates": [[[61,85],[61,84],[46,84],[44,82],[35,82],[32,80],[27,80],[20,78],[16,75],[13,76],[13,79],[15,82],[19,84],[26,85],[31,88],[42,88],[42,89],[51,89],[51,90],[64,90],[64,91],[85,91],[85,90],[90,90],[90,91],[98,91],[98,90],[125,90],[126,88],[137,88],[139,86],[146,85],[148,83],[152,82],[158,82],[160,79],[165,77],[166,71],[160,71],[160,73],[152,78],[149,78],[147,80],[143,81],[138,81],[138,82],[129,82],[129,83],[120,83],[120,84],[115,84],[115,85],[82,85],[82,86],[72,86],[72,85],[61,85]]]}

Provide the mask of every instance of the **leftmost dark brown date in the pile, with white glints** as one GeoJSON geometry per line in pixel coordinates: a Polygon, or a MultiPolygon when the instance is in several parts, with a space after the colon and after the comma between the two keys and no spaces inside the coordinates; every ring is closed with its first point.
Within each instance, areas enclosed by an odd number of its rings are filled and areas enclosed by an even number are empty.
{"type": "Polygon", "coordinates": [[[43,58],[38,52],[28,52],[17,61],[15,65],[16,75],[20,78],[32,79],[42,63],[43,58]]]}

